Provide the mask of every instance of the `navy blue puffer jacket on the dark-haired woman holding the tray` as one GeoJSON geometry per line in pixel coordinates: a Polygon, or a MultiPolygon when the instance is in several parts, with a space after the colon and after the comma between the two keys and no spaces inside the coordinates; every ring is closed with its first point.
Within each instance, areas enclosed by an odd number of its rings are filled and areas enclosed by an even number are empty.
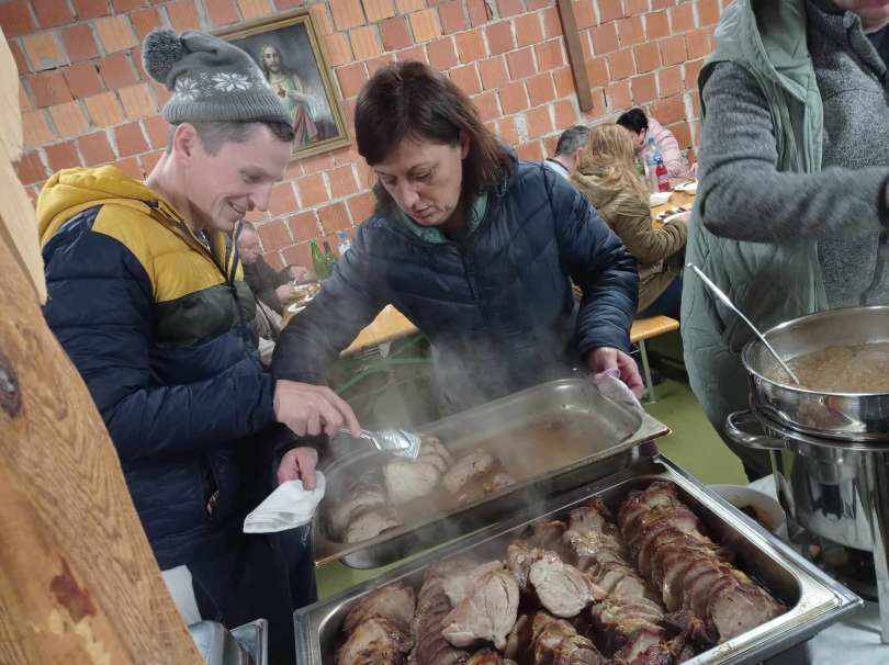
{"type": "Polygon", "coordinates": [[[444,409],[565,375],[598,347],[629,349],[635,260],[563,178],[515,162],[460,244],[373,216],[282,332],[279,377],[322,382],[337,354],[392,303],[429,339],[444,409]],[[583,290],[577,306],[573,280],[583,290]]]}

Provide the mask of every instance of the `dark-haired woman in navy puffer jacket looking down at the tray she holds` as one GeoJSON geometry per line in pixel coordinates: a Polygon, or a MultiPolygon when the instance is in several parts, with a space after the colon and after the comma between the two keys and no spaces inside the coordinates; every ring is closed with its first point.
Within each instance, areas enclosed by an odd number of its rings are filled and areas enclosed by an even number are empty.
{"type": "Polygon", "coordinates": [[[376,211],[281,334],[275,375],[323,382],[392,303],[431,343],[446,412],[582,363],[617,369],[641,393],[627,354],[635,262],[563,178],[519,162],[469,98],[420,63],[378,71],[359,94],[355,127],[379,179],[376,211]]]}

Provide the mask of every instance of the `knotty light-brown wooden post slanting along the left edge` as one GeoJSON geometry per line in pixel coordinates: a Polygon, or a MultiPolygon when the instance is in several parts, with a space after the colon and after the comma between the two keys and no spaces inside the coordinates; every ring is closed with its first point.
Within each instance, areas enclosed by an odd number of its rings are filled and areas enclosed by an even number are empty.
{"type": "Polygon", "coordinates": [[[27,203],[0,216],[0,663],[199,665],[104,424],[41,313],[34,211],[9,164],[18,77],[0,44],[0,100],[15,90],[0,109],[0,201],[27,203]]]}

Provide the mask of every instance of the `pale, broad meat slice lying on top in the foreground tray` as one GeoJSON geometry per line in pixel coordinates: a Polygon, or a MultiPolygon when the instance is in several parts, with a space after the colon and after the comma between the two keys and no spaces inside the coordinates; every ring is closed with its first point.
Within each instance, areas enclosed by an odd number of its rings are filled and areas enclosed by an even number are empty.
{"type": "Polygon", "coordinates": [[[487,572],[446,617],[441,634],[458,647],[482,641],[503,649],[516,623],[518,602],[519,590],[513,575],[505,568],[487,572]]]}

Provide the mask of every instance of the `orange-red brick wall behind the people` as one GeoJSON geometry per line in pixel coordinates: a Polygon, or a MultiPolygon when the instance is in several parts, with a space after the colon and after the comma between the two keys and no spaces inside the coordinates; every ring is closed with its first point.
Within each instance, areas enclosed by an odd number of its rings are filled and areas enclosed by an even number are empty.
{"type": "MultiPolygon", "coordinates": [[[[30,195],[56,169],[113,162],[143,178],[156,164],[168,98],[142,68],[155,26],[215,30],[305,0],[0,0],[0,25],[21,75],[30,195]]],[[[483,119],[526,159],[549,155],[561,129],[642,105],[690,147],[696,77],[728,0],[575,0],[594,109],[582,114],[555,0],[308,2],[351,127],[355,98],[379,67],[423,59],[448,72],[483,119]]],[[[307,241],[350,229],[373,206],[353,147],[290,166],[270,210],[252,215],[273,264],[308,264],[307,241]]],[[[336,247],[336,243],[331,243],[336,247]]]]}

